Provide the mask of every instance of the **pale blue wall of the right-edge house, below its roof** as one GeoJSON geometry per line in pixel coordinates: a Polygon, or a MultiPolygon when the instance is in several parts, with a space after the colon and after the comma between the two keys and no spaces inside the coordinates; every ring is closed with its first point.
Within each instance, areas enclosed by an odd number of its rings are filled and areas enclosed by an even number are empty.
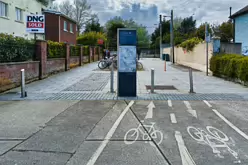
{"type": "Polygon", "coordinates": [[[235,18],[235,42],[242,43],[242,53],[248,55],[248,14],[235,18]]]}

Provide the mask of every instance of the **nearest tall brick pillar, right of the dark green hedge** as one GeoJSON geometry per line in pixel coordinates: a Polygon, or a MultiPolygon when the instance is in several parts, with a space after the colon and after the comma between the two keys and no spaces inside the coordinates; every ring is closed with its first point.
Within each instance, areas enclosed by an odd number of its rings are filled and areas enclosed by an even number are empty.
{"type": "Polygon", "coordinates": [[[46,74],[46,63],[47,63],[47,42],[45,40],[36,40],[36,59],[40,61],[39,64],[39,79],[43,79],[47,76],[46,74]]]}

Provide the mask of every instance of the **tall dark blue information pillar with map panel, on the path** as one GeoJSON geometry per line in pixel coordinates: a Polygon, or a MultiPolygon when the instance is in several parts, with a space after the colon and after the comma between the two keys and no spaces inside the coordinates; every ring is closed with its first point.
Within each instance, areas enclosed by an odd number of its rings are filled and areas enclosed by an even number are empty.
{"type": "Polygon", "coordinates": [[[119,28],[117,36],[118,52],[118,96],[136,97],[136,29],[119,28]]]}

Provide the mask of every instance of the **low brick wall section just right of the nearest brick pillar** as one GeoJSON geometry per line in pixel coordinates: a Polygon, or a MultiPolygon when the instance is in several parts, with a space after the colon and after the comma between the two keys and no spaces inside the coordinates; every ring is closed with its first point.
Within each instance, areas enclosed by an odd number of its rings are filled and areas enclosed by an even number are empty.
{"type": "Polygon", "coordinates": [[[54,58],[47,59],[46,62],[46,73],[53,74],[57,72],[65,71],[65,59],[64,58],[54,58]]]}

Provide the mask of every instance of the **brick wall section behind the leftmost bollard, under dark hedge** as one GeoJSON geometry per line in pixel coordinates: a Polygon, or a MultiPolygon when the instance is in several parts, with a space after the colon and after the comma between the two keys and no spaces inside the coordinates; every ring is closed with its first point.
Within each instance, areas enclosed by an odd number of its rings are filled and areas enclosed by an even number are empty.
{"type": "Polygon", "coordinates": [[[39,78],[39,61],[0,63],[0,92],[20,85],[21,69],[25,69],[27,82],[39,78]]]}

